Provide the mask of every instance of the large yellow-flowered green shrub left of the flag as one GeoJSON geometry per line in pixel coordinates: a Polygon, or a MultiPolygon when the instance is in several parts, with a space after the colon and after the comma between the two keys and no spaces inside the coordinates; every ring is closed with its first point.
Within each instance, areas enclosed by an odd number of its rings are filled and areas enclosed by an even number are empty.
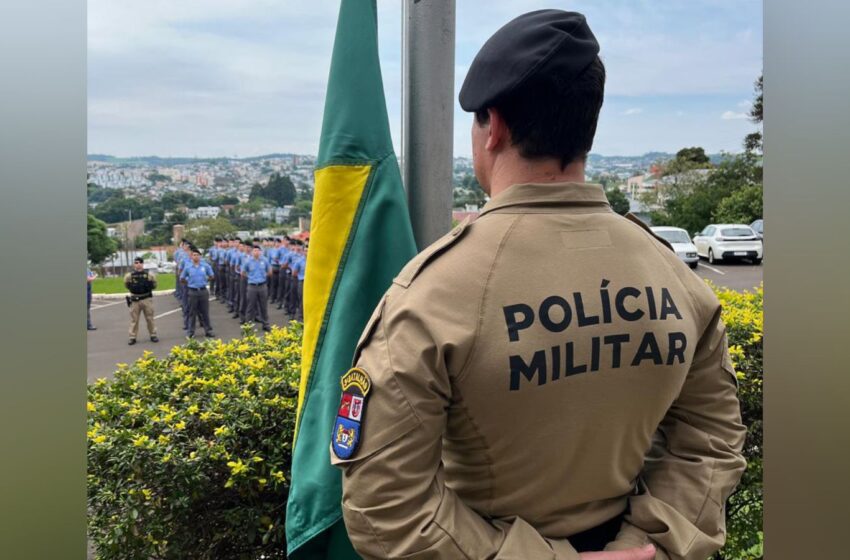
{"type": "Polygon", "coordinates": [[[284,558],[301,327],[146,353],[89,386],[102,559],[284,558]]]}

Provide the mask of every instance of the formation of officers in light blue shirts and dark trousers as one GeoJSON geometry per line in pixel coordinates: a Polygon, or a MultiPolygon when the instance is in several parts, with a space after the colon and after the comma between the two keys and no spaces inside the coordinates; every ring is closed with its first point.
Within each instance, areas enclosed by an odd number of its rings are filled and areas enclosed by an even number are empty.
{"type": "Polygon", "coordinates": [[[303,321],[306,253],[306,244],[290,237],[216,237],[203,260],[200,250],[182,241],[174,253],[180,280],[175,297],[181,302],[186,335],[194,337],[200,322],[206,336],[214,336],[210,296],[227,304],[240,324],[258,321],[264,331],[271,329],[269,303],[303,321]]]}

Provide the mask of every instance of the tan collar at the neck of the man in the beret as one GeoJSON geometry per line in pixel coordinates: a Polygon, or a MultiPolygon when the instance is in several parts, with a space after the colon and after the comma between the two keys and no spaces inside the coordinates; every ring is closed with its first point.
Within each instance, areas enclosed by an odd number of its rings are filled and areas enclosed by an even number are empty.
{"type": "Polygon", "coordinates": [[[523,183],[512,185],[484,205],[481,215],[508,206],[608,206],[602,185],[595,183],[523,183]]]}

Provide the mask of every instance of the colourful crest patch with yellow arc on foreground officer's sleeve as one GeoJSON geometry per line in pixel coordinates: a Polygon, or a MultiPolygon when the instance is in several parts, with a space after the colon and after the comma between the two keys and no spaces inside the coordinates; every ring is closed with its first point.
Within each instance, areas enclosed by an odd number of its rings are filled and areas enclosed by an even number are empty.
{"type": "Polygon", "coordinates": [[[372,388],[369,374],[361,368],[351,368],[340,378],[342,398],[339,403],[331,447],[339,459],[350,459],[360,445],[366,400],[372,388]]]}

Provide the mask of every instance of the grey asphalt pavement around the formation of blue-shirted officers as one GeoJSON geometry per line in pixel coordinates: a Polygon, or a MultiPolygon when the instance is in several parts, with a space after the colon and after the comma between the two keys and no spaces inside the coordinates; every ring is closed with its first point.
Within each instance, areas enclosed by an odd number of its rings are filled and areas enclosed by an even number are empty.
{"type": "MultiPolygon", "coordinates": [[[[159,342],[153,343],[148,336],[144,316],[139,319],[138,343],[127,344],[129,339],[130,311],[123,299],[92,300],[92,322],[96,331],[88,332],[88,381],[101,377],[111,378],[115,364],[131,363],[142,356],[145,350],[150,350],[164,357],[172,346],[186,341],[183,333],[183,319],[180,304],[171,294],[154,296],[154,317],[159,342]]],[[[269,305],[269,320],[275,325],[284,325],[288,317],[282,310],[269,305]]],[[[217,338],[230,340],[240,336],[241,330],[238,319],[233,319],[227,313],[227,306],[214,300],[210,301],[210,321],[217,338]]],[[[256,325],[257,329],[260,325],[256,325]]],[[[195,336],[204,335],[204,329],[195,328],[195,336]]]]}

